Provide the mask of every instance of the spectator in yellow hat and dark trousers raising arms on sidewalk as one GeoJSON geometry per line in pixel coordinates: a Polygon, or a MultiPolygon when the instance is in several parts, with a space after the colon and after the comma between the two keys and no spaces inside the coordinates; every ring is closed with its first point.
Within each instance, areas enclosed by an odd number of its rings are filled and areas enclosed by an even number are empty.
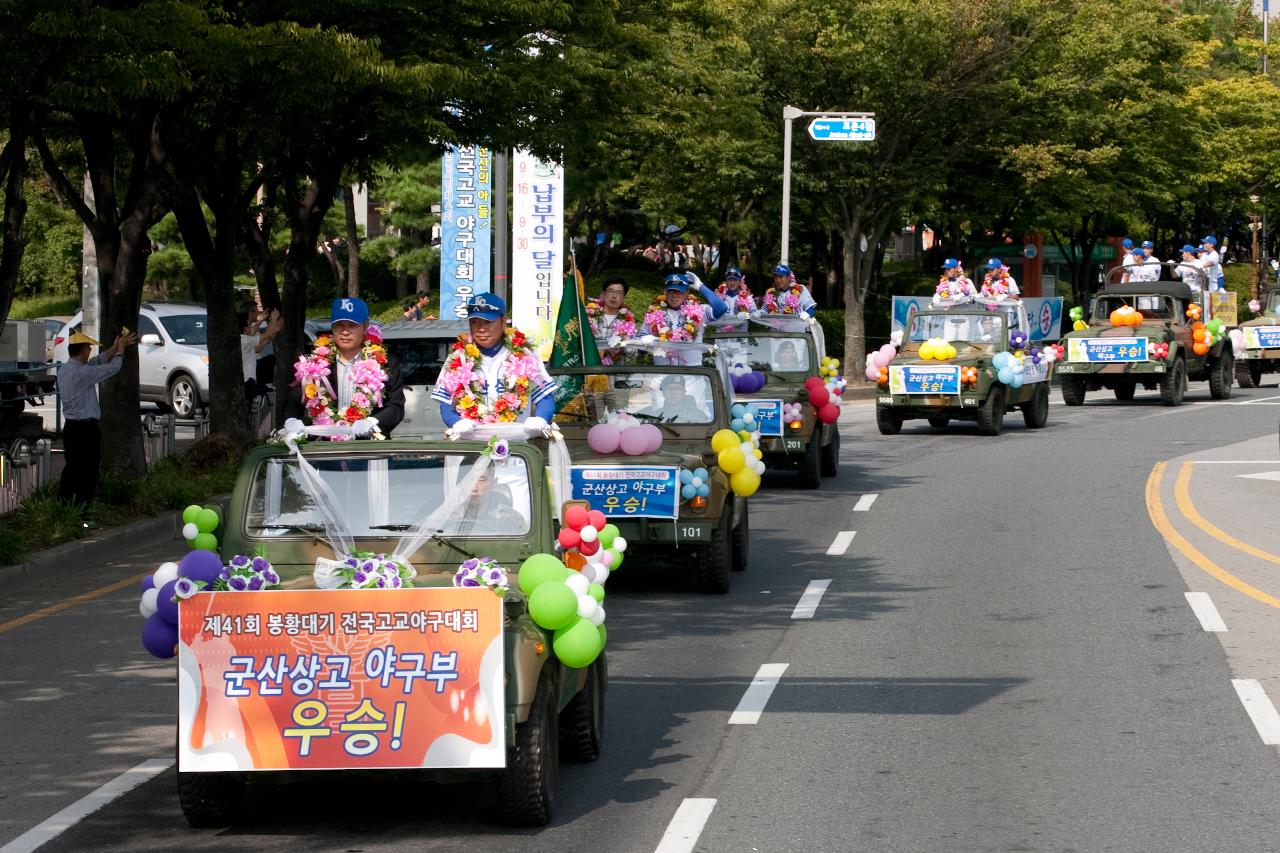
{"type": "MultiPolygon", "coordinates": [[[[97,403],[97,383],[109,379],[124,366],[120,355],[124,347],[138,338],[129,330],[120,332],[115,342],[97,357],[90,359],[90,347],[97,341],[77,332],[67,342],[67,364],[58,369],[58,394],[63,401],[63,479],[58,484],[58,498],[63,503],[82,507],[86,512],[97,492],[97,471],[102,460],[102,410],[97,403]]],[[[84,529],[96,530],[97,524],[86,519],[84,529]]]]}

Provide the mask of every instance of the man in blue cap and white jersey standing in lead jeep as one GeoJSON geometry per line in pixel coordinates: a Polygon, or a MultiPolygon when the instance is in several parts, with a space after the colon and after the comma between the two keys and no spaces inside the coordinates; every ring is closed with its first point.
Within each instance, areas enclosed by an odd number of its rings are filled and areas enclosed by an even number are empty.
{"type": "Polygon", "coordinates": [[[479,423],[517,420],[530,434],[545,430],[556,415],[556,383],[525,336],[507,329],[507,302],[497,293],[471,296],[467,325],[471,339],[453,345],[431,392],[440,420],[456,435],[479,423]]]}

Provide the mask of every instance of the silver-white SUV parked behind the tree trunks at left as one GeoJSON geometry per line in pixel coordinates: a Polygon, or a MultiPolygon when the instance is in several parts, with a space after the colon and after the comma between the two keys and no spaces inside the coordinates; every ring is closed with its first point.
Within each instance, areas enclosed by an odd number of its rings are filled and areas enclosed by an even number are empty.
{"type": "MultiPolygon", "coordinates": [[[[67,361],[67,338],[83,315],[76,313],[54,348],[67,361]]],[[[209,402],[209,313],[195,302],[143,302],[138,313],[138,393],[178,418],[191,418],[209,402]]]]}

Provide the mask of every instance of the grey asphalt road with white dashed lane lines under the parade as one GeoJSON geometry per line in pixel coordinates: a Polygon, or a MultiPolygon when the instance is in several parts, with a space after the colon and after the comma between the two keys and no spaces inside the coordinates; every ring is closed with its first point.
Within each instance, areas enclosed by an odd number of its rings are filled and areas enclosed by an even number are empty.
{"type": "Polygon", "coordinates": [[[836,480],[751,500],[728,596],[678,565],[611,579],[605,752],[562,768],[541,830],[483,786],[367,780],[253,788],[238,826],[191,830],[136,585],[42,611],[178,543],[10,583],[0,844],[161,760],[40,849],[1275,849],[1277,419],[1274,382],[1176,410],[1055,393],[1048,428],[998,438],[847,407],[836,480]]]}

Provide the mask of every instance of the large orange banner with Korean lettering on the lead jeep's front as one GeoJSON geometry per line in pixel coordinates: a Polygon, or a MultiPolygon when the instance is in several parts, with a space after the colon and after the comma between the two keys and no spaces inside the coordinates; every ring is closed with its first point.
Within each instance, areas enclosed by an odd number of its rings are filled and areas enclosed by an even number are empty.
{"type": "Polygon", "coordinates": [[[201,593],[180,605],[178,767],[502,767],[488,589],[201,593]]]}

